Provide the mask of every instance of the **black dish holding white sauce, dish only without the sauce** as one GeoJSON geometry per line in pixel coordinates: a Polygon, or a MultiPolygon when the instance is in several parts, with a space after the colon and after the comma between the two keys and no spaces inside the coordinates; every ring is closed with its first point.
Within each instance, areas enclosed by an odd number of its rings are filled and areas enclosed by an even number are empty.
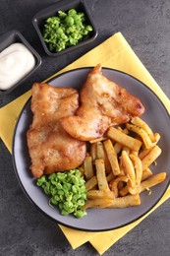
{"type": "Polygon", "coordinates": [[[30,46],[28,41],[25,39],[25,37],[21,34],[21,32],[18,31],[11,31],[3,34],[0,37],[0,52],[3,51],[5,48],[10,46],[13,43],[21,42],[25,46],[27,46],[28,50],[33,54],[35,58],[35,66],[34,68],[19,82],[17,82],[14,86],[12,86],[10,89],[7,90],[0,90],[0,96],[2,95],[8,95],[10,94],[14,89],[16,89],[18,86],[20,86],[28,77],[40,66],[41,64],[41,58],[39,54],[30,46]]]}

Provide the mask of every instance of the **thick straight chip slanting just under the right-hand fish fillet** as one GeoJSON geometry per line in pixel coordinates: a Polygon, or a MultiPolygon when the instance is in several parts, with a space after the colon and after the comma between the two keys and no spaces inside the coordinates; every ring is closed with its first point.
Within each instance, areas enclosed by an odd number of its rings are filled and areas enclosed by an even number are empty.
{"type": "Polygon", "coordinates": [[[137,151],[139,152],[140,148],[142,147],[142,142],[129,136],[126,135],[124,132],[119,131],[115,127],[110,127],[107,132],[107,136],[115,140],[116,142],[119,142],[120,144],[128,147],[132,151],[137,151]]]}

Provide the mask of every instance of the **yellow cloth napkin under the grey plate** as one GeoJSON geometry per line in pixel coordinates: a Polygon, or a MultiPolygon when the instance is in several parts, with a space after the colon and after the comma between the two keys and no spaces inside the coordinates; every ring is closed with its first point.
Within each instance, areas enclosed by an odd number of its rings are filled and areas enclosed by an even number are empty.
{"type": "MultiPolygon", "coordinates": [[[[170,113],[170,101],[168,97],[164,95],[151,75],[144,68],[142,62],[132,50],[131,46],[121,32],[115,33],[103,43],[87,52],[83,57],[70,64],[57,74],[54,74],[52,77],[55,77],[56,75],[67,70],[79,67],[95,66],[98,63],[101,63],[103,67],[124,71],[141,80],[152,91],[154,91],[157,96],[159,96],[170,113]]],[[[47,82],[52,77],[48,78],[44,82],[47,82]]],[[[0,136],[10,152],[12,149],[12,137],[17,118],[29,96],[30,91],[0,109],[0,136]]],[[[141,223],[146,216],[148,216],[169,197],[170,187],[167,189],[159,203],[139,221],[115,230],[105,232],[86,232],[74,230],[62,225],[60,225],[60,228],[63,230],[74,249],[81,246],[86,241],[89,241],[101,255],[129,230],[141,223]],[[103,241],[102,243],[100,242],[101,240],[103,241]]]]}

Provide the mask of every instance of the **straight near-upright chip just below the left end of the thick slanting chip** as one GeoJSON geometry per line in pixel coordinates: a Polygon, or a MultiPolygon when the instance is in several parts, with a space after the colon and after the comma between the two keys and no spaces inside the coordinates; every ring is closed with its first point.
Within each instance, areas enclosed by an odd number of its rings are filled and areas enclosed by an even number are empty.
{"type": "Polygon", "coordinates": [[[104,148],[108,156],[108,160],[110,161],[111,168],[114,175],[120,174],[120,167],[118,163],[117,154],[115,153],[114,147],[110,140],[105,141],[104,148]]]}

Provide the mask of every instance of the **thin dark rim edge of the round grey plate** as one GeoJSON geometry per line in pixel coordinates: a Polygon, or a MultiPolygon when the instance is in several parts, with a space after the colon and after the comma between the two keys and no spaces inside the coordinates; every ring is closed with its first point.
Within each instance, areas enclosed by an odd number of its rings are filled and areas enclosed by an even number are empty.
{"type": "MultiPolygon", "coordinates": [[[[68,70],[66,72],[63,72],[63,73],[60,73],[59,75],[56,75],[55,77],[52,77],[52,78],[49,78],[48,80],[46,80],[45,82],[41,82],[41,83],[46,83],[46,84],[49,84],[53,81],[55,81],[56,79],[58,79],[59,77],[63,76],[63,75],[66,75],[68,73],[72,73],[72,72],[75,72],[75,71],[79,71],[79,70],[90,70],[94,68],[94,66],[87,66],[87,67],[81,67],[81,68],[75,68],[75,69],[72,69],[72,70],[68,70]]],[[[156,98],[158,99],[158,101],[161,103],[162,107],[164,108],[167,116],[169,117],[169,120],[170,120],[170,113],[168,112],[165,104],[162,102],[162,100],[160,99],[159,96],[157,96],[148,86],[146,86],[141,80],[139,80],[138,78],[124,72],[124,71],[120,71],[120,70],[117,70],[117,69],[113,69],[113,68],[108,68],[108,67],[102,67],[101,70],[111,70],[111,71],[114,71],[116,73],[121,73],[123,75],[126,75],[134,80],[136,80],[138,83],[142,84],[142,86],[144,88],[146,88],[146,90],[150,91],[152,95],[156,96],[156,98]]],[[[31,90],[31,89],[30,89],[31,90]]],[[[99,231],[109,231],[109,230],[115,230],[115,229],[118,229],[118,228],[121,228],[121,227],[124,227],[124,226],[127,226],[129,224],[133,224],[137,221],[139,221],[140,219],[142,219],[143,216],[149,214],[149,212],[158,204],[158,202],[161,200],[161,198],[164,196],[164,194],[166,193],[169,185],[170,185],[170,177],[168,177],[168,182],[167,182],[167,185],[166,187],[164,188],[164,190],[162,191],[161,195],[157,198],[157,200],[155,201],[154,204],[152,204],[146,211],[144,211],[144,213],[142,213],[140,216],[138,216],[136,219],[133,219],[132,221],[126,223],[126,224],[120,224],[118,226],[115,226],[115,227],[107,227],[107,228],[96,228],[96,229],[90,229],[90,228],[85,228],[85,227],[79,227],[79,226],[75,226],[75,225],[72,225],[72,224],[65,224],[64,222],[61,222],[61,221],[58,221],[56,219],[54,219],[53,217],[51,217],[49,214],[47,214],[46,212],[44,212],[39,206],[36,205],[36,203],[31,199],[31,197],[28,195],[28,192],[25,188],[25,186],[23,185],[22,183],[22,180],[20,178],[20,175],[19,175],[19,172],[18,172],[18,169],[17,169],[17,165],[16,165],[16,160],[15,160],[15,140],[16,140],[16,133],[17,133],[17,128],[18,128],[18,125],[19,125],[19,122],[20,122],[20,119],[23,115],[23,112],[25,110],[25,108],[27,107],[28,103],[30,103],[30,99],[31,99],[31,96],[28,97],[26,103],[24,104],[24,106],[22,107],[22,110],[18,116],[18,119],[17,119],[17,122],[16,122],[16,125],[15,125],[15,129],[14,129],[14,133],[13,133],[13,140],[12,140],[12,161],[13,161],[13,167],[15,169],[15,173],[16,173],[16,176],[18,178],[18,181],[23,189],[23,191],[25,192],[25,195],[28,197],[28,200],[31,204],[34,205],[34,207],[40,212],[42,213],[44,216],[46,216],[48,219],[52,220],[53,222],[56,222],[57,224],[62,224],[64,226],[67,226],[69,228],[74,228],[76,230],[82,230],[82,231],[90,231],[90,232],[99,232],[99,231]]],[[[33,177],[32,177],[33,178],[33,177]]],[[[35,178],[34,178],[35,179],[35,178]]]]}

